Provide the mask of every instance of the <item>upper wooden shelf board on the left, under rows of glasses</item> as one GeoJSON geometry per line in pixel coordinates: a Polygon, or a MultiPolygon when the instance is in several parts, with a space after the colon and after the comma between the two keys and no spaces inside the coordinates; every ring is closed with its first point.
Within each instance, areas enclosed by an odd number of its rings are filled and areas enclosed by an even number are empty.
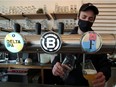
{"type": "Polygon", "coordinates": [[[16,14],[16,15],[2,15],[0,14],[0,19],[24,19],[25,17],[29,18],[29,19],[48,19],[50,20],[51,17],[49,16],[49,14],[16,14]]]}

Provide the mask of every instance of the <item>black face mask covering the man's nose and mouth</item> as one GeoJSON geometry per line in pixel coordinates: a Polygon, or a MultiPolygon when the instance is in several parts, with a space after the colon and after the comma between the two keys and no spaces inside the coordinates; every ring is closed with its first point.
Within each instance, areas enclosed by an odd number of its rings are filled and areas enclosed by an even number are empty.
{"type": "Polygon", "coordinates": [[[84,20],[79,19],[78,25],[82,32],[87,32],[87,31],[92,30],[91,27],[93,25],[93,22],[84,21],[84,20]]]}

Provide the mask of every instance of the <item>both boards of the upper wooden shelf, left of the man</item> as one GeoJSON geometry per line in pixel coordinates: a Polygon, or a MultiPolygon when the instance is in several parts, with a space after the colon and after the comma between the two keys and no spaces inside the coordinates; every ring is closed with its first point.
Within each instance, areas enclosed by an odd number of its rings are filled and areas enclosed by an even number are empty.
{"type": "MultiPolygon", "coordinates": [[[[77,13],[51,13],[54,20],[56,19],[77,19],[77,13]]],[[[10,19],[24,19],[25,17],[29,19],[48,19],[50,20],[51,17],[49,14],[12,14],[12,15],[3,15],[0,14],[0,20],[9,20],[10,19]]]]}

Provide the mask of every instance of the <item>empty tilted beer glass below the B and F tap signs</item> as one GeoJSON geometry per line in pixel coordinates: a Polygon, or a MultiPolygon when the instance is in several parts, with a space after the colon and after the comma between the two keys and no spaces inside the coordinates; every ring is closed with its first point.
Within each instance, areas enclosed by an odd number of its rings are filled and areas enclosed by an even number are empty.
{"type": "Polygon", "coordinates": [[[68,77],[70,71],[73,70],[75,65],[75,60],[76,57],[74,55],[67,55],[63,60],[62,66],[65,73],[64,76],[62,77],[63,80],[65,80],[68,77]]]}

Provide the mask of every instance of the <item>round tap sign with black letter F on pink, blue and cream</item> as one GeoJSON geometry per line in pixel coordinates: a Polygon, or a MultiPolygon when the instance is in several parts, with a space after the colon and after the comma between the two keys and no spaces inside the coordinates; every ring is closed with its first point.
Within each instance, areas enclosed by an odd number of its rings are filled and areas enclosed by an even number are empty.
{"type": "Polygon", "coordinates": [[[102,39],[99,34],[93,31],[86,32],[81,38],[81,47],[88,53],[97,52],[102,47],[102,39]]]}

